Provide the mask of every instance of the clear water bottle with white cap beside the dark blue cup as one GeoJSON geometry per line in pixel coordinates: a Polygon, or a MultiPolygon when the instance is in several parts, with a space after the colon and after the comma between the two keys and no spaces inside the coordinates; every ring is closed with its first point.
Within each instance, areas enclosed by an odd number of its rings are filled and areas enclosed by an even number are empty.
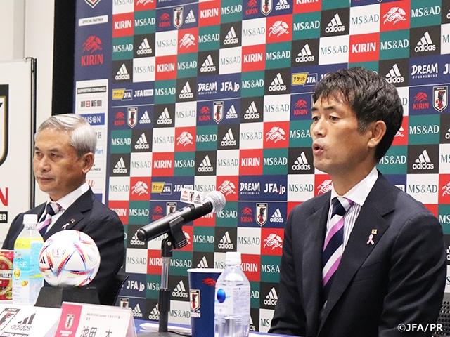
{"type": "Polygon", "coordinates": [[[228,251],[216,282],[214,337],[247,337],[249,331],[250,282],[240,269],[240,253],[228,251]]]}

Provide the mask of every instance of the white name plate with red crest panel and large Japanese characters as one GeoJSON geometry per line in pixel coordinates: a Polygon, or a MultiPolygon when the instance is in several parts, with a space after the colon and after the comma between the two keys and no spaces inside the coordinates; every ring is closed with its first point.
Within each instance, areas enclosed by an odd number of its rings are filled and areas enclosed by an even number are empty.
{"type": "Polygon", "coordinates": [[[136,337],[131,308],[63,302],[62,310],[55,337],[136,337]]]}

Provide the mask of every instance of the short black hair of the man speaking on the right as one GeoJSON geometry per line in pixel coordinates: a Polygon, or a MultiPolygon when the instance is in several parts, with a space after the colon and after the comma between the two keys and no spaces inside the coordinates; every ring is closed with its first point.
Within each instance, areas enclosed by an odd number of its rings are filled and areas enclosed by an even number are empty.
{"type": "Polygon", "coordinates": [[[403,106],[397,89],[385,79],[363,67],[330,72],[316,84],[313,101],[333,97],[344,99],[358,119],[359,132],[366,130],[374,121],[384,121],[386,134],[375,149],[375,159],[386,154],[401,126],[403,106]]]}

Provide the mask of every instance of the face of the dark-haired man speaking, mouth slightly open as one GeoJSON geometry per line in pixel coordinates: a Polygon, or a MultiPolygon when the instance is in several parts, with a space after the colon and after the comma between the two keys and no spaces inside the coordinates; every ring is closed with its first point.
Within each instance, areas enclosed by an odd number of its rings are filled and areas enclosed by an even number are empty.
{"type": "Polygon", "coordinates": [[[311,114],[312,150],[316,169],[333,178],[358,172],[366,164],[375,165],[373,151],[368,146],[371,132],[359,133],[358,120],[347,103],[332,96],[319,98],[314,103],[311,114]]]}

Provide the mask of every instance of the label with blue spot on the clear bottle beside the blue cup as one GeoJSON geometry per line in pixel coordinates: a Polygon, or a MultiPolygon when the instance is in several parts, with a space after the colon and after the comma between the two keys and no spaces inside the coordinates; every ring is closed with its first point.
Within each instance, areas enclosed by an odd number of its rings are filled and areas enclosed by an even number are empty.
{"type": "Polygon", "coordinates": [[[214,313],[246,315],[250,310],[250,286],[223,286],[216,289],[214,313]]]}

